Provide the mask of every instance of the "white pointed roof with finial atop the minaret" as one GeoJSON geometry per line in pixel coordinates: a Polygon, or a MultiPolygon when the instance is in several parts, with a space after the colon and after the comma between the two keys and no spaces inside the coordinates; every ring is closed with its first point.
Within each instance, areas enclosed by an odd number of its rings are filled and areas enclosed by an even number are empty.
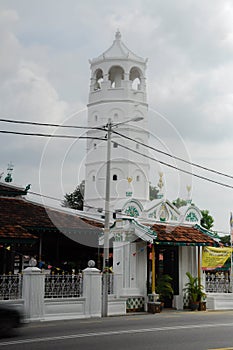
{"type": "Polygon", "coordinates": [[[115,34],[115,40],[108,50],[102,53],[100,56],[90,60],[90,63],[96,63],[99,61],[104,61],[106,59],[128,59],[133,61],[138,61],[141,63],[146,63],[147,59],[144,59],[135,53],[133,53],[121,40],[121,33],[119,29],[115,34]]]}

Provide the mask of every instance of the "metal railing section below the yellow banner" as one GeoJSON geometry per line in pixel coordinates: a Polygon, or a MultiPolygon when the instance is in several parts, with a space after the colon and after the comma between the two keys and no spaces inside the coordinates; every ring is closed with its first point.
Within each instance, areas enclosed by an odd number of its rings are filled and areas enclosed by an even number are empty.
{"type": "Polygon", "coordinates": [[[206,272],[205,290],[207,293],[231,293],[228,272],[206,272]]]}

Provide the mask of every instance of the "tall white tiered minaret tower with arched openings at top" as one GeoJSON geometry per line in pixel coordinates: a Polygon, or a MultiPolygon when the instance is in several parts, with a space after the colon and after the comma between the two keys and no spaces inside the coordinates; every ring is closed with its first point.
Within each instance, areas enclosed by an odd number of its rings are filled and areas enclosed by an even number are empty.
{"type": "Polygon", "coordinates": [[[143,146],[148,144],[146,63],[146,59],[135,55],[124,45],[119,31],[116,32],[112,46],[99,57],[90,60],[90,129],[87,136],[102,140],[87,141],[84,198],[86,211],[105,207],[106,132],[94,127],[105,126],[109,121],[113,131],[110,210],[121,209],[129,199],[137,199],[142,204],[149,200],[149,162],[146,157],[137,153],[148,154],[148,149],[143,146]],[[136,122],[132,119],[141,120],[136,122]]]}

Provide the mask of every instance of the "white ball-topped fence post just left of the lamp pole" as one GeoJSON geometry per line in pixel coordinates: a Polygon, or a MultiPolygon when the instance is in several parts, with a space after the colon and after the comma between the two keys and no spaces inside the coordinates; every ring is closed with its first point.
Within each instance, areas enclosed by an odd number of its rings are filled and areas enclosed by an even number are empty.
{"type": "Polygon", "coordinates": [[[83,270],[83,297],[85,298],[85,315],[101,317],[102,305],[102,275],[96,269],[95,262],[90,260],[83,270]]]}

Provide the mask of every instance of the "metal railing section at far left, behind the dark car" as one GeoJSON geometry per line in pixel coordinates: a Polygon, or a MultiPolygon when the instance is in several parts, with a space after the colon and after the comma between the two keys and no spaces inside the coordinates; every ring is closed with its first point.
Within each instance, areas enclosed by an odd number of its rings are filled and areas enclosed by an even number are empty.
{"type": "Polygon", "coordinates": [[[22,276],[0,275],[0,300],[22,298],[22,276]]]}

